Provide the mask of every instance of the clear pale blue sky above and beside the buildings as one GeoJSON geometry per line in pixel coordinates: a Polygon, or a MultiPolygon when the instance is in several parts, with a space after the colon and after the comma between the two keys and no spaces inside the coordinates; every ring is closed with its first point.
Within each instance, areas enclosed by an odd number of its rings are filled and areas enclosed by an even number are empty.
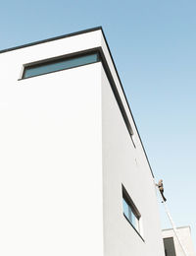
{"type": "MultiPolygon", "coordinates": [[[[102,26],[176,225],[196,239],[196,1],[7,0],[0,49],[102,26]]],[[[139,184],[138,184],[139,185],[139,184]]],[[[163,227],[170,227],[162,213],[163,227]]],[[[196,246],[195,246],[196,247],[196,246]]]]}

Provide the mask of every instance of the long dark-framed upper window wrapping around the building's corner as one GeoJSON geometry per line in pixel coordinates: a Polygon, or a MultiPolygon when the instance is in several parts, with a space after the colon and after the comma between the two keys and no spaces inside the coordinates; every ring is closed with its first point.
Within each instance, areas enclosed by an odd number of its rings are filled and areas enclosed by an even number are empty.
{"type": "Polygon", "coordinates": [[[70,56],[68,55],[60,56],[60,57],[55,57],[53,59],[45,59],[45,60],[37,61],[34,63],[24,64],[23,75],[19,80],[41,76],[44,74],[66,70],[66,69],[83,66],[87,64],[92,64],[100,61],[103,64],[103,68],[106,72],[107,78],[111,85],[111,89],[113,90],[114,96],[116,97],[117,103],[122,112],[125,126],[130,135],[133,146],[135,147],[132,139],[133,131],[129,123],[126,111],[124,109],[123,101],[121,99],[121,96],[119,94],[115,81],[113,79],[113,75],[110,71],[109,65],[107,63],[107,60],[105,58],[104,52],[101,47],[89,49],[89,50],[86,50],[85,52],[73,53],[70,56]]]}

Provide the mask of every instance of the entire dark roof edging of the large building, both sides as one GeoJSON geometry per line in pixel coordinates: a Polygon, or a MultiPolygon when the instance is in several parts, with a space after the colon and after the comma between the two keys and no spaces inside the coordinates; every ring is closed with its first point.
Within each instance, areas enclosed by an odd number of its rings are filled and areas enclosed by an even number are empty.
{"type": "Polygon", "coordinates": [[[102,29],[101,26],[95,27],[95,28],[91,28],[91,29],[87,29],[87,30],[83,30],[83,31],[79,31],[79,32],[72,32],[72,33],[67,33],[67,34],[63,34],[63,35],[59,35],[59,36],[55,36],[55,37],[50,37],[50,38],[47,38],[47,39],[38,40],[38,41],[30,42],[30,43],[26,43],[26,44],[19,45],[19,46],[16,46],[16,47],[11,47],[11,48],[7,48],[7,49],[3,49],[3,50],[0,50],[0,54],[1,54],[1,53],[6,53],[6,52],[9,52],[9,51],[13,51],[13,50],[22,49],[22,48],[25,48],[25,47],[33,46],[33,45],[40,44],[40,43],[44,43],[44,42],[54,41],[54,40],[63,39],[63,38],[66,38],[66,37],[71,37],[71,36],[78,35],[78,34],[82,34],[82,33],[86,33],[86,32],[95,32],[95,31],[99,31],[99,30],[103,33],[104,39],[105,39],[105,41],[106,41],[106,45],[107,45],[107,47],[108,47],[108,51],[109,51],[109,53],[110,53],[110,57],[111,57],[111,59],[112,59],[113,65],[114,65],[114,67],[115,67],[115,71],[116,71],[117,76],[118,76],[118,79],[119,79],[119,81],[120,81],[120,85],[121,85],[121,88],[122,88],[122,91],[123,91],[123,96],[124,96],[125,101],[126,101],[126,104],[127,104],[127,106],[128,106],[128,109],[129,109],[131,118],[132,118],[132,120],[133,120],[135,129],[136,129],[136,131],[137,131],[137,134],[138,134],[138,137],[139,137],[139,140],[140,140],[142,149],[143,149],[143,151],[144,151],[144,155],[145,155],[146,160],[147,160],[147,162],[148,162],[148,165],[149,165],[149,167],[150,167],[151,174],[152,174],[152,176],[153,176],[153,178],[154,178],[154,173],[153,173],[153,170],[152,170],[152,168],[151,168],[150,161],[148,160],[146,151],[145,151],[145,149],[144,149],[144,146],[143,146],[143,143],[142,143],[142,140],[141,140],[139,131],[138,131],[138,129],[137,129],[137,126],[136,126],[134,117],[133,117],[132,112],[131,112],[131,110],[130,110],[130,106],[129,106],[127,97],[125,96],[125,93],[124,93],[124,90],[123,90],[123,84],[122,84],[122,81],[121,81],[121,79],[120,79],[120,76],[119,76],[119,73],[118,73],[118,70],[117,70],[117,67],[116,67],[116,64],[115,64],[113,55],[112,55],[112,53],[111,53],[111,50],[110,50],[108,41],[107,41],[107,39],[106,39],[105,33],[104,33],[104,31],[103,31],[103,29],[102,29]]]}

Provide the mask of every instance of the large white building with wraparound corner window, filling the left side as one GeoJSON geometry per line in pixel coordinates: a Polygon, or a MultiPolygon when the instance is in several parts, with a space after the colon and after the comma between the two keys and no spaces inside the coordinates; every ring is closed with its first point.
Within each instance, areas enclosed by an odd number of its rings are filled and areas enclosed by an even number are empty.
{"type": "Polygon", "coordinates": [[[164,256],[102,29],[2,50],[0,67],[0,255],[164,256]]]}

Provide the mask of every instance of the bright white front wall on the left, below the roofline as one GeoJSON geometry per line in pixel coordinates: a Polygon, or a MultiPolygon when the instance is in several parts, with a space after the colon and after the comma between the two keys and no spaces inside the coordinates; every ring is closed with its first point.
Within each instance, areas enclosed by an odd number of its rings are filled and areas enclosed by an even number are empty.
{"type": "Polygon", "coordinates": [[[18,81],[80,37],[0,55],[2,256],[102,255],[101,63],[18,81]]]}

